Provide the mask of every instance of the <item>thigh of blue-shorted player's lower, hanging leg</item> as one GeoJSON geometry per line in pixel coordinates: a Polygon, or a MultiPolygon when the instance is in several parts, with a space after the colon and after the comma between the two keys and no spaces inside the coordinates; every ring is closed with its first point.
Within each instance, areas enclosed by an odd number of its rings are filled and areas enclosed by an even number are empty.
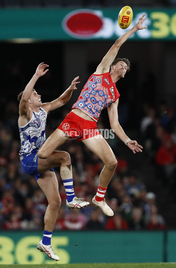
{"type": "Polygon", "coordinates": [[[42,176],[37,180],[38,185],[45,194],[48,203],[59,202],[60,195],[58,189],[58,181],[54,171],[46,171],[42,176]]]}

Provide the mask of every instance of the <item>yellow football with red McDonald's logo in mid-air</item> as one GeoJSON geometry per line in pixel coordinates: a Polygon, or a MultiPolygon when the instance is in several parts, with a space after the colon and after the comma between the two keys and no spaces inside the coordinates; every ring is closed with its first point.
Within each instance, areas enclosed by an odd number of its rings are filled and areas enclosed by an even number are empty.
{"type": "Polygon", "coordinates": [[[130,6],[124,6],[119,12],[118,23],[120,28],[126,29],[130,26],[133,19],[133,11],[130,6]]]}

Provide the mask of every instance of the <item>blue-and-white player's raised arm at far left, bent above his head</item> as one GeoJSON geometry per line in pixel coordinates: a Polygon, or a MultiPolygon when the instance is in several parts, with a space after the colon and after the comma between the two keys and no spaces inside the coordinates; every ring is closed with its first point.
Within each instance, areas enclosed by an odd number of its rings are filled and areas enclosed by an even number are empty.
{"type": "Polygon", "coordinates": [[[21,101],[19,104],[20,116],[28,115],[28,113],[29,113],[29,98],[33,92],[34,85],[40,76],[43,76],[43,75],[45,75],[46,72],[48,72],[49,69],[46,69],[44,71],[44,69],[47,68],[48,66],[49,65],[44,64],[43,62],[40,63],[35,71],[35,74],[33,75],[31,80],[29,81],[29,83],[25,87],[25,90],[23,92],[23,96],[21,97],[21,101]]]}

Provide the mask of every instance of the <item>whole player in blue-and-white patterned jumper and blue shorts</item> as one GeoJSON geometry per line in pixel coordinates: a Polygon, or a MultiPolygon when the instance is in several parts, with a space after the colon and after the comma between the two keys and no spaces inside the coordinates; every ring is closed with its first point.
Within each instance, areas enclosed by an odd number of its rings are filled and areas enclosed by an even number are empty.
{"type": "Polygon", "coordinates": [[[53,111],[70,100],[72,91],[76,90],[79,77],[75,77],[70,87],[56,100],[42,103],[41,96],[35,91],[34,85],[38,78],[48,72],[49,65],[40,63],[32,79],[25,90],[18,95],[19,119],[18,126],[21,139],[20,161],[23,170],[35,176],[38,185],[48,200],[48,207],[45,212],[45,230],[43,239],[38,243],[37,249],[45,252],[51,259],[59,260],[51,246],[51,237],[55,226],[57,212],[60,208],[61,199],[58,190],[58,181],[54,167],[60,166],[60,174],[65,186],[69,209],[84,208],[89,202],[77,198],[73,189],[72,166],[70,155],[65,151],[53,151],[46,159],[38,158],[38,150],[45,142],[46,118],[50,111],[53,111]]]}

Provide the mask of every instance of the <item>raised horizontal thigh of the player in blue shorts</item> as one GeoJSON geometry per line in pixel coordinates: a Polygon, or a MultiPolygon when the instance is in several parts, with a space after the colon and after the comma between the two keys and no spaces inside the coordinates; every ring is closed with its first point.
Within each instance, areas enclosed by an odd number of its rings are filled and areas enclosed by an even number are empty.
{"type": "Polygon", "coordinates": [[[46,159],[38,158],[38,173],[60,166],[62,163],[70,165],[70,155],[65,151],[54,151],[46,159]]]}

